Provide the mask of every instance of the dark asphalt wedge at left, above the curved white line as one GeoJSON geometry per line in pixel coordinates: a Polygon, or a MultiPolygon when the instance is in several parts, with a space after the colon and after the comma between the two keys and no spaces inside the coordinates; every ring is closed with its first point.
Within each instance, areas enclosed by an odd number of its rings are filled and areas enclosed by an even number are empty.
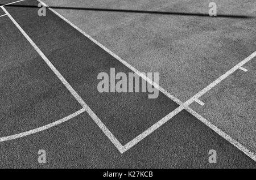
{"type": "Polygon", "coordinates": [[[0,136],[47,125],[82,107],[5,16],[0,19],[0,136]]]}

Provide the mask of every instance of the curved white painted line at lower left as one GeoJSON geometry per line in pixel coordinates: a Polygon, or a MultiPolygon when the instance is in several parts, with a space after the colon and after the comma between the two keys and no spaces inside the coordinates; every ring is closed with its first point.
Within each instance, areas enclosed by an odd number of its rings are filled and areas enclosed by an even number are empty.
{"type": "Polygon", "coordinates": [[[28,136],[28,135],[31,135],[31,134],[35,134],[36,132],[40,132],[40,131],[44,131],[44,130],[47,130],[48,128],[51,128],[53,126],[57,126],[57,125],[60,125],[61,123],[63,122],[66,122],[68,121],[69,119],[72,119],[74,117],[76,117],[77,115],[81,114],[85,112],[85,109],[82,108],[80,109],[79,111],[71,114],[71,115],[68,115],[67,117],[63,118],[63,119],[60,119],[59,121],[55,121],[53,123],[49,123],[48,125],[46,126],[42,126],[42,127],[38,127],[38,128],[35,128],[33,130],[30,130],[30,131],[26,131],[26,132],[22,132],[22,133],[19,133],[19,134],[15,134],[15,135],[11,135],[11,136],[6,136],[6,137],[2,137],[0,138],[0,142],[5,142],[7,140],[13,140],[13,139],[17,139],[17,138],[22,138],[24,136],[28,136]]]}

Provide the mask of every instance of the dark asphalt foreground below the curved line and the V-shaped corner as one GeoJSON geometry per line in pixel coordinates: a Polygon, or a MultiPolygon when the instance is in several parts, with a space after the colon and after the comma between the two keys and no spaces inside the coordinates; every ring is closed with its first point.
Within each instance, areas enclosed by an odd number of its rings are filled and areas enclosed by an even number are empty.
{"type": "Polygon", "coordinates": [[[83,113],[59,126],[1,143],[2,168],[255,168],[255,162],[183,111],[121,154],[83,113]],[[38,163],[38,150],[47,163],[38,163]],[[217,164],[208,151],[216,149],[217,164]]]}

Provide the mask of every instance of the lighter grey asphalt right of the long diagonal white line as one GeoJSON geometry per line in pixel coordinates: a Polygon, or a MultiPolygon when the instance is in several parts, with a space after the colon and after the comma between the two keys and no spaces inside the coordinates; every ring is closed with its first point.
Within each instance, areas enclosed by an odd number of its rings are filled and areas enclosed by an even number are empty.
{"type": "MultiPolygon", "coordinates": [[[[209,2],[212,1],[44,2],[49,6],[59,7],[207,14],[209,2]]],[[[247,15],[254,18],[230,19],[68,9],[56,11],[138,70],[159,72],[160,85],[184,102],[256,50],[256,1],[214,2],[217,5],[217,15],[247,15]]],[[[204,106],[196,103],[191,105],[193,110],[254,153],[255,62],[256,58],[251,59],[245,65],[247,72],[238,70],[207,92],[202,97],[204,106]]]]}

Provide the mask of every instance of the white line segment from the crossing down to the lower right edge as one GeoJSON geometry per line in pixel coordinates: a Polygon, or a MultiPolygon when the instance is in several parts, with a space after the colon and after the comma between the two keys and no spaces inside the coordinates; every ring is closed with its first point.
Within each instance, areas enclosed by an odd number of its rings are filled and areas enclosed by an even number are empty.
{"type": "Polygon", "coordinates": [[[227,135],[225,132],[221,131],[218,127],[214,126],[212,123],[210,123],[207,119],[205,119],[203,116],[192,110],[187,106],[185,108],[189,113],[194,115],[197,119],[199,119],[201,122],[203,122],[205,125],[207,125],[209,128],[211,128],[214,132],[216,132],[218,135],[220,135],[222,138],[226,139],[229,143],[233,144],[236,148],[238,148],[240,151],[245,153],[245,155],[249,156],[252,160],[256,162],[256,155],[254,155],[253,152],[251,152],[249,149],[244,147],[242,144],[238,143],[236,140],[231,138],[229,135],[227,135]]]}

